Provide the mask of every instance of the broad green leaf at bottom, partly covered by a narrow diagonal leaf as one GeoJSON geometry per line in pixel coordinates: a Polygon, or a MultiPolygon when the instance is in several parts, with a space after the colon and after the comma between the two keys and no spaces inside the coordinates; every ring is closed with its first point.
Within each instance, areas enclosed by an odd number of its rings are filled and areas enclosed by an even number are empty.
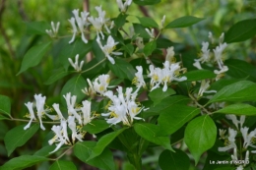
{"type": "Polygon", "coordinates": [[[94,159],[87,161],[87,159],[92,154],[95,146],[96,142],[77,142],[74,146],[74,154],[81,161],[91,166],[106,170],[115,169],[113,155],[109,149],[104,149],[100,155],[96,156],[94,159]]]}

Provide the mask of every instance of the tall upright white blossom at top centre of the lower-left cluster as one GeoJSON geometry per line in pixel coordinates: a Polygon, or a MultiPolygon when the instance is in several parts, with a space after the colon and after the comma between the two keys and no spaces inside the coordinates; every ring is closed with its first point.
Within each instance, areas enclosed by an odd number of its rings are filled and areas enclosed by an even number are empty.
{"type": "Polygon", "coordinates": [[[76,103],[77,96],[76,95],[71,96],[70,92],[68,92],[66,95],[63,95],[63,96],[66,99],[68,114],[75,116],[75,118],[78,120],[79,124],[82,125],[82,117],[77,112],[78,109],[75,109],[75,103],[76,103]]]}

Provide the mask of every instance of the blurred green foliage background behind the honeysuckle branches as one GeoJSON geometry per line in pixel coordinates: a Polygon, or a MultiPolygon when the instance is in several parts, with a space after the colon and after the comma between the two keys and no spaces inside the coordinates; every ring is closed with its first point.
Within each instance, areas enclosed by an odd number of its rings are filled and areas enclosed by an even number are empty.
{"type": "MultiPolygon", "coordinates": [[[[34,93],[42,93],[47,96],[47,102],[59,101],[61,87],[65,79],[52,85],[43,83],[49,77],[54,68],[54,60],[61,52],[61,42],[54,42],[56,48],[44,56],[38,67],[16,76],[21,68],[21,63],[26,52],[34,45],[45,41],[48,36],[32,35],[27,31],[26,24],[30,22],[44,21],[60,22],[59,34],[71,34],[68,19],[72,10],[88,10],[96,15],[96,6],[102,6],[108,18],[115,18],[118,14],[118,7],[115,0],[0,0],[0,94],[7,95],[12,100],[12,116],[22,118],[28,111],[24,103],[33,99],[34,93]]],[[[132,23],[139,23],[136,16],[153,18],[158,24],[162,16],[166,16],[165,24],[183,16],[195,16],[205,18],[204,21],[190,28],[168,29],[162,32],[162,36],[176,42],[176,51],[186,53],[194,58],[198,56],[202,41],[208,41],[208,33],[212,31],[216,38],[227,31],[238,21],[253,19],[256,14],[256,0],[161,0],[154,6],[138,6],[132,4],[128,10],[130,15],[127,20],[132,23]]],[[[128,28],[129,26],[127,26],[128,28]]],[[[92,37],[94,37],[92,35],[92,37]]],[[[252,64],[256,63],[256,39],[249,39],[244,42],[232,43],[225,50],[226,58],[243,59],[252,64]]],[[[21,122],[1,121],[0,122],[0,165],[11,157],[24,153],[33,153],[40,148],[38,144],[31,143],[19,147],[11,155],[7,156],[4,148],[3,138],[6,132],[21,122]],[[36,145],[36,146],[34,146],[36,145]]],[[[40,134],[39,134],[40,135],[40,134]]],[[[42,133],[41,136],[45,134],[42,133]]],[[[36,137],[35,137],[36,140],[36,137]]],[[[36,141],[33,141],[36,142],[36,141]]],[[[40,142],[38,142],[40,143],[40,142]]],[[[145,156],[143,163],[146,169],[158,169],[158,156],[161,149],[153,149],[145,156]]],[[[124,167],[125,155],[115,153],[118,167],[124,167]],[[119,164],[119,165],[118,165],[119,164]]],[[[80,169],[89,169],[81,161],[77,162],[80,169]]],[[[201,169],[203,162],[197,167],[191,164],[191,170],[201,169]]],[[[48,169],[47,162],[36,167],[37,169],[48,169]]],[[[35,169],[33,167],[32,169],[35,169]]],[[[94,168],[92,168],[94,169],[94,168]]]]}

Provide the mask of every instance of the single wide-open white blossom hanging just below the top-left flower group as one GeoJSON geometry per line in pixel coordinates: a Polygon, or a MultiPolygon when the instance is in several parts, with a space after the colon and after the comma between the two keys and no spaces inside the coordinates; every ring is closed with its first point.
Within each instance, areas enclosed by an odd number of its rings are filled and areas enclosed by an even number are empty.
{"type": "Polygon", "coordinates": [[[104,46],[102,46],[99,38],[96,39],[96,42],[98,43],[100,49],[103,51],[105,57],[107,57],[107,59],[110,61],[111,64],[114,64],[115,62],[114,62],[114,59],[110,56],[110,54],[113,54],[113,55],[123,54],[122,52],[113,52],[113,50],[115,49],[115,45],[118,44],[119,42],[115,42],[111,35],[107,37],[107,41],[104,46]]]}

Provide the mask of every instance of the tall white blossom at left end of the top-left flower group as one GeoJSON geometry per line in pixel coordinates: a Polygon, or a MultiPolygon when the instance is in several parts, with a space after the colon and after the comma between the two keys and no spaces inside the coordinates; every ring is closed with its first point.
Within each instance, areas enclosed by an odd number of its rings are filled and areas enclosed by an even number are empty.
{"type": "Polygon", "coordinates": [[[81,17],[79,17],[79,10],[78,9],[77,10],[73,10],[72,13],[75,16],[78,28],[80,29],[82,40],[85,43],[88,43],[88,40],[87,40],[87,38],[85,36],[85,33],[84,33],[84,27],[88,27],[90,25],[87,22],[87,18],[88,18],[90,13],[88,13],[87,11],[81,12],[81,17]]]}

